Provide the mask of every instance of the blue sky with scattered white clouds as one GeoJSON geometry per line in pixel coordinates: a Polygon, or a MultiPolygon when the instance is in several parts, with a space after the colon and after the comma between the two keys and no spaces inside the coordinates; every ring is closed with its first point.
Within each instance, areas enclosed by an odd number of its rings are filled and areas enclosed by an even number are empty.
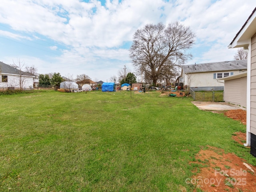
{"type": "Polygon", "coordinates": [[[129,58],[132,36],[148,23],[180,21],[196,34],[186,64],[234,60],[228,45],[255,0],[1,0],[0,61],[17,58],[38,73],[87,74],[110,81],[129,58]]]}

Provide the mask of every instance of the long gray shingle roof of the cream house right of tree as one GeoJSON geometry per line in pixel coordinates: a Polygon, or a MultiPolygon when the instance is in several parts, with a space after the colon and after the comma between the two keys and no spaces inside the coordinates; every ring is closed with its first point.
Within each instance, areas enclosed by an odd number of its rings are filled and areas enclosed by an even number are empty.
{"type": "Polygon", "coordinates": [[[184,73],[246,70],[246,69],[247,69],[247,60],[234,60],[234,61],[203,63],[203,64],[193,64],[193,65],[182,66],[182,70],[184,73]]]}

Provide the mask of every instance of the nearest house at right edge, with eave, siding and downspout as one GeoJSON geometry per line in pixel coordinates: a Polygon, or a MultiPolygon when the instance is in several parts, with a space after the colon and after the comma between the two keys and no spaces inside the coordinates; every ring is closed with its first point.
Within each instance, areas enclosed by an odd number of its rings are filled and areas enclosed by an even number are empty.
{"type": "Polygon", "coordinates": [[[251,154],[256,157],[256,8],[238,31],[228,48],[242,47],[247,58],[247,107],[246,143],[251,154]]]}

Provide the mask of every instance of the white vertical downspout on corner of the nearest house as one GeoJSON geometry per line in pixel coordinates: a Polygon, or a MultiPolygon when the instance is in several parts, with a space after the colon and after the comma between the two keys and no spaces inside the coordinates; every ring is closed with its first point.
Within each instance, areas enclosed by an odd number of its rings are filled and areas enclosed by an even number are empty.
{"type": "MultiPolygon", "coordinates": [[[[251,41],[251,40],[250,40],[251,41]]],[[[246,143],[244,143],[245,147],[251,146],[251,134],[250,134],[250,114],[251,114],[251,42],[248,47],[243,47],[244,52],[247,52],[247,95],[246,95],[246,143]]]]}

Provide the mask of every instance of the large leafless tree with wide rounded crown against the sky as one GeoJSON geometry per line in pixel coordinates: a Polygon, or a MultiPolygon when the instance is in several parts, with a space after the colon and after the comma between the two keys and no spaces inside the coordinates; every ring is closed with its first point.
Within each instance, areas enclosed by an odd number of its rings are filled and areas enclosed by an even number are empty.
{"type": "Polygon", "coordinates": [[[164,66],[183,64],[192,58],[187,50],[194,44],[194,37],[190,28],[179,22],[168,26],[147,24],[135,32],[130,58],[134,67],[144,69],[155,86],[164,66]]]}

